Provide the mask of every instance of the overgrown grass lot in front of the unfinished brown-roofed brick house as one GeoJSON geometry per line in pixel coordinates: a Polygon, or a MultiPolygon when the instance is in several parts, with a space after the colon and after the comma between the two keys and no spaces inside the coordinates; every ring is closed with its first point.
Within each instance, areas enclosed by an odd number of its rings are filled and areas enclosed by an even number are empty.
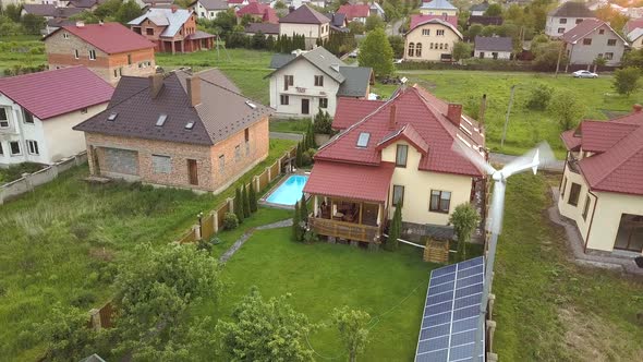
{"type": "MultiPolygon", "coordinates": [[[[266,161],[217,196],[122,182],[93,185],[83,181],[87,167],[81,167],[0,206],[0,360],[35,360],[43,350],[29,330],[53,304],[88,311],[109,300],[118,265],[135,255],[137,244],[174,241],[199,212],[218,206],[293,143],[270,145],[266,161]]],[[[242,228],[222,232],[215,253],[245,228],[289,216],[262,209],[242,228]]]]}

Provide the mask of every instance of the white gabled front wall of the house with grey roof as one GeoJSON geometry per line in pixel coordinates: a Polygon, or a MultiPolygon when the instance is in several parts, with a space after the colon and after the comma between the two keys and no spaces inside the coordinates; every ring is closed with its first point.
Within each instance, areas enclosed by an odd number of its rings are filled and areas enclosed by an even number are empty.
{"type": "Polygon", "coordinates": [[[313,117],[319,110],[319,98],[328,99],[328,108],[325,110],[333,117],[337,109],[337,90],[340,84],[322,72],[317,67],[305,59],[299,59],[288,67],[277,70],[270,76],[270,107],[277,109],[277,113],[292,117],[313,117]],[[283,90],[283,75],[293,75],[293,85],[283,90]],[[315,86],[315,75],[324,75],[324,86],[315,86]],[[298,87],[305,88],[304,93],[298,92],[298,87]],[[281,95],[288,95],[288,106],[281,105],[281,95]],[[302,99],[308,99],[310,113],[302,113],[302,99]]]}

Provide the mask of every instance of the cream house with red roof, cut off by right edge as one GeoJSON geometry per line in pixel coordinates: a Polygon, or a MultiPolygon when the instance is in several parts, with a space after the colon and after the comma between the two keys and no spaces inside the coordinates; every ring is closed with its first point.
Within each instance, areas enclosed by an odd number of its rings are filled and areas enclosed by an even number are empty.
{"type": "Polygon", "coordinates": [[[568,161],[558,209],[585,250],[643,252],[643,111],[583,121],[561,138],[568,161]]]}

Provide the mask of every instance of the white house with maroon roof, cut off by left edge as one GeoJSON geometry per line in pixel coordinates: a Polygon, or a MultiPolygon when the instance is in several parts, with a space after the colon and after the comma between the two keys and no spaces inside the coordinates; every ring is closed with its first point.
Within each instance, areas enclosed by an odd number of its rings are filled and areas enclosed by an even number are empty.
{"type": "Polygon", "coordinates": [[[84,150],[72,126],[105,110],[112,93],[84,67],[0,79],[0,166],[53,164],[84,150]]]}

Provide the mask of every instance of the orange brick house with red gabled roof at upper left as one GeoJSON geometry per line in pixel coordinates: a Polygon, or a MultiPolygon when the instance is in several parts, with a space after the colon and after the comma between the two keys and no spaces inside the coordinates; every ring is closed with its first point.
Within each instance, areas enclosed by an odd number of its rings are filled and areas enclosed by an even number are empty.
{"type": "Polygon", "coordinates": [[[85,65],[108,83],[155,72],[154,44],[119,23],[65,25],[45,37],[49,69],[85,65]]]}

